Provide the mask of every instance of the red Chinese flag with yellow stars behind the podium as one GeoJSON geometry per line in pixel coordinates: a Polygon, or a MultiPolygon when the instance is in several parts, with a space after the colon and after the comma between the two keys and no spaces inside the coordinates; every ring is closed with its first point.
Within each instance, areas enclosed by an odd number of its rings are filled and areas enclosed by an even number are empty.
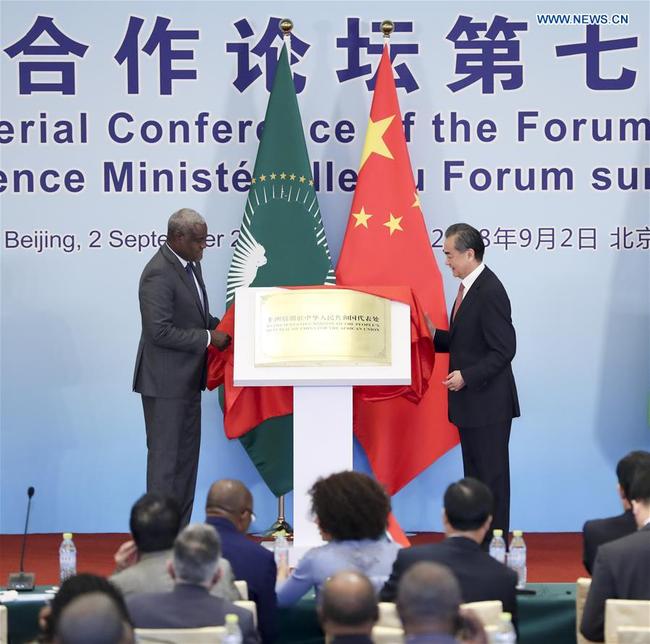
{"type": "MultiPolygon", "coordinates": [[[[408,286],[434,325],[448,328],[442,278],[420,209],[386,47],[336,283],[408,286]]],[[[429,388],[418,404],[404,397],[370,401],[363,389],[355,390],[355,434],[390,494],[458,443],[442,385],[448,366],[448,356],[436,354],[429,388]]]]}

